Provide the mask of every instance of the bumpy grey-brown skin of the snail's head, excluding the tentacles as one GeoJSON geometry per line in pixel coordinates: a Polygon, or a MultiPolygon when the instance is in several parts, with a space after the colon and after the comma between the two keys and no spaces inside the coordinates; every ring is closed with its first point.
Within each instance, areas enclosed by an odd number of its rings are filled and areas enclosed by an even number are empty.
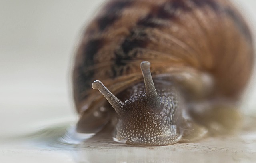
{"type": "Polygon", "coordinates": [[[168,145],[180,141],[182,135],[179,132],[182,131],[177,127],[181,127],[182,124],[177,124],[181,122],[177,122],[177,118],[182,117],[183,106],[179,103],[179,93],[171,82],[166,84],[155,80],[154,83],[163,109],[160,112],[155,111],[154,107],[149,110],[145,102],[144,83],[129,89],[131,92],[126,93],[132,98],[128,97],[125,102],[129,108],[120,116],[116,126],[118,140],[140,145],[168,145]]]}

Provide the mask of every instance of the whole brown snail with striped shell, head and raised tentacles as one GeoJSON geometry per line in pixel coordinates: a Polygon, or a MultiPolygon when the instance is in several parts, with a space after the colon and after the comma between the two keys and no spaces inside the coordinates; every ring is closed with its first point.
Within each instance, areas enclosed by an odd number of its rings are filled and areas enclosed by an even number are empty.
{"type": "Polygon", "coordinates": [[[76,53],[76,131],[111,125],[131,145],[225,133],[253,64],[250,28],[228,0],[110,0],[76,53]]]}

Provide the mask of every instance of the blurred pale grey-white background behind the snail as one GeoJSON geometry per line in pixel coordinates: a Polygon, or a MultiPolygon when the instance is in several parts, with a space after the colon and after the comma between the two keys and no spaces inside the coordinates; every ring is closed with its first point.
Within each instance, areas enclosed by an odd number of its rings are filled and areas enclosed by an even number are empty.
{"type": "MultiPolygon", "coordinates": [[[[71,69],[80,34],[104,0],[0,1],[0,138],[75,122],[71,69]]],[[[256,1],[236,0],[256,29],[256,1]]],[[[251,82],[243,109],[256,113],[251,82]]]]}

